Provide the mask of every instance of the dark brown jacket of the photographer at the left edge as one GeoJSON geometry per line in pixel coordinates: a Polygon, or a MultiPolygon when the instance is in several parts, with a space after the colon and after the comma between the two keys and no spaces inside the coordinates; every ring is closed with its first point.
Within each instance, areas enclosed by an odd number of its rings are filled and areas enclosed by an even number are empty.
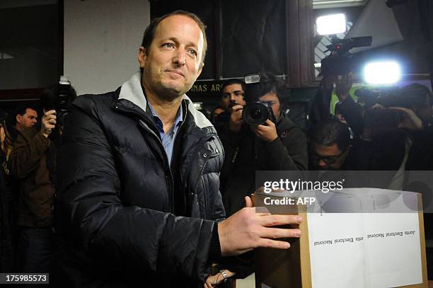
{"type": "Polygon", "coordinates": [[[18,225],[44,227],[52,225],[54,185],[47,168],[50,140],[36,129],[18,134],[9,155],[11,175],[20,181],[18,225]]]}

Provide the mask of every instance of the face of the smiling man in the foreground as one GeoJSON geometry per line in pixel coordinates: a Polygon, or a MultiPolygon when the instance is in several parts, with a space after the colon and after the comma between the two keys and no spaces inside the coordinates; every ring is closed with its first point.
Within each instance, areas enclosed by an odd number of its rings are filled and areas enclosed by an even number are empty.
{"type": "Polygon", "coordinates": [[[165,18],[146,51],[139,49],[142,84],[154,96],[173,100],[190,90],[202,71],[202,30],[187,16],[165,18]]]}

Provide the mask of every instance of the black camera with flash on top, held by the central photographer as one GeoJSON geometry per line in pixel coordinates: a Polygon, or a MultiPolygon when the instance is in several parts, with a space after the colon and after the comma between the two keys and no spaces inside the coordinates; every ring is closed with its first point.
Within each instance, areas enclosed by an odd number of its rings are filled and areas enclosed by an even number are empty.
{"type": "MultiPolygon", "coordinates": [[[[250,74],[244,77],[244,81],[247,84],[248,98],[258,99],[263,96],[263,87],[260,85],[260,74],[250,74]]],[[[269,102],[260,102],[255,100],[254,102],[248,103],[242,110],[243,121],[248,125],[258,126],[271,120],[276,122],[272,106],[269,102]]]]}

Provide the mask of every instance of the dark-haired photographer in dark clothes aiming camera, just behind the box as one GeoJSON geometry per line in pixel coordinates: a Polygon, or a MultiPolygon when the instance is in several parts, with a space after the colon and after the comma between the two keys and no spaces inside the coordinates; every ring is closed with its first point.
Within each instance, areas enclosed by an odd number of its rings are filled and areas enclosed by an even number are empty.
{"type": "Polygon", "coordinates": [[[282,113],[284,82],[273,74],[260,74],[260,83],[247,85],[246,96],[248,105],[255,101],[270,105],[275,122],[267,119],[250,126],[243,119],[244,106],[234,105],[228,125],[219,127],[226,152],[220,190],[227,215],[241,209],[244,197],[254,192],[255,171],[303,171],[308,165],[305,134],[282,113]]]}

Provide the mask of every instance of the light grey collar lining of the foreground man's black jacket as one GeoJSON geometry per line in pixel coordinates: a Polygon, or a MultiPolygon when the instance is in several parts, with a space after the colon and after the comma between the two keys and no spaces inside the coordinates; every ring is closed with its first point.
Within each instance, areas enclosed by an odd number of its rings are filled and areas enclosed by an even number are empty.
{"type": "MultiPolygon", "coordinates": [[[[134,74],[131,79],[126,81],[120,87],[119,100],[125,99],[129,102],[134,103],[140,109],[142,109],[146,113],[147,100],[146,96],[144,96],[143,88],[142,88],[142,73],[137,72],[134,74]]],[[[204,127],[212,127],[212,123],[205,117],[200,111],[194,108],[194,104],[192,100],[183,94],[183,100],[187,100],[188,103],[188,111],[191,113],[192,117],[195,120],[195,124],[200,129],[204,127]]]]}

